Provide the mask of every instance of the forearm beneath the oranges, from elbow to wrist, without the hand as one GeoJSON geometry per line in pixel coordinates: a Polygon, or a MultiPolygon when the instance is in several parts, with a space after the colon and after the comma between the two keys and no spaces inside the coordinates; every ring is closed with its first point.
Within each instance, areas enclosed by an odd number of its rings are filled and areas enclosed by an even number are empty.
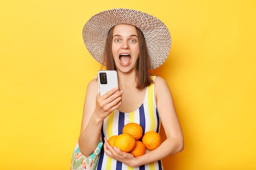
{"type": "Polygon", "coordinates": [[[155,162],[171,155],[174,155],[177,152],[183,150],[184,143],[183,140],[167,138],[158,148],[152,150],[140,157],[135,157],[135,161],[132,166],[141,166],[151,162],[155,162]]]}

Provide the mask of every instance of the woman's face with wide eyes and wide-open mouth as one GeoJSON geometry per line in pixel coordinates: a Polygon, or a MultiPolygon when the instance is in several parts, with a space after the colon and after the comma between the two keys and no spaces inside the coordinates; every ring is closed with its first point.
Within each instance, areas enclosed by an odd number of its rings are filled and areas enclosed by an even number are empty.
{"type": "Polygon", "coordinates": [[[117,70],[124,73],[136,70],[139,58],[139,39],[135,26],[119,24],[114,27],[112,55],[117,70]]]}

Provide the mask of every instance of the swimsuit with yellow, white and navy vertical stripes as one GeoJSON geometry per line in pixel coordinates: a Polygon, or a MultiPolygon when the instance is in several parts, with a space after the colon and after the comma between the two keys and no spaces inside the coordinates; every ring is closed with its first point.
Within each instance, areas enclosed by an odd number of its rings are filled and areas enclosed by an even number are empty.
{"type": "MultiPolygon", "coordinates": [[[[155,77],[156,76],[151,76],[153,80],[155,80],[155,77]]],[[[113,135],[120,135],[124,125],[131,122],[135,122],[142,127],[143,135],[150,130],[159,133],[160,119],[156,108],[154,94],[153,83],[150,86],[147,86],[144,102],[137,110],[131,113],[122,113],[118,110],[114,110],[103,121],[103,126],[101,128],[102,138],[106,137],[109,139],[113,135]]],[[[141,141],[141,139],[139,140],[141,141]]],[[[148,150],[146,149],[146,153],[147,152],[148,150]]],[[[155,161],[139,167],[127,166],[124,163],[108,157],[102,147],[97,170],[163,170],[163,168],[162,161],[155,161]]]]}

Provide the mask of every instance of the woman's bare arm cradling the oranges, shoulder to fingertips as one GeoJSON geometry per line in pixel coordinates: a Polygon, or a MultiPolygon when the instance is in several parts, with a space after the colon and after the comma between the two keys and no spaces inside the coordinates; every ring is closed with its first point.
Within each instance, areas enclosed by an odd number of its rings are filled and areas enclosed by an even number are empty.
{"type": "Polygon", "coordinates": [[[116,147],[112,148],[105,140],[104,151],[108,156],[113,157],[128,166],[137,167],[161,160],[183,150],[183,134],[175,111],[171,92],[167,83],[161,77],[155,79],[155,98],[159,116],[166,133],[166,140],[155,150],[140,157],[133,157],[132,154],[121,152],[121,150],[116,147]]]}

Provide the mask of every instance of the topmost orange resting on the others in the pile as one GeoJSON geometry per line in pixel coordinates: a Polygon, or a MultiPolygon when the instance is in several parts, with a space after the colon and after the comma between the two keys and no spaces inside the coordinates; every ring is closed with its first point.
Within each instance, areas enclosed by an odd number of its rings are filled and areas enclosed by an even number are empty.
{"type": "Polygon", "coordinates": [[[136,123],[128,123],[124,126],[123,133],[130,134],[135,140],[139,140],[142,137],[142,127],[136,123]]]}

